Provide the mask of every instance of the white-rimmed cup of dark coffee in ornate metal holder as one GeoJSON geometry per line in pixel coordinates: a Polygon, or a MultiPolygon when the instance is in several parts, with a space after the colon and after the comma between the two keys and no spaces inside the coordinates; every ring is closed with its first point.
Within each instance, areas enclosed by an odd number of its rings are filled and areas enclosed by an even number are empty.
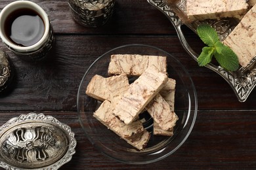
{"type": "Polygon", "coordinates": [[[45,59],[54,44],[46,12],[31,1],[14,1],[0,12],[0,37],[7,47],[28,61],[45,59]]]}

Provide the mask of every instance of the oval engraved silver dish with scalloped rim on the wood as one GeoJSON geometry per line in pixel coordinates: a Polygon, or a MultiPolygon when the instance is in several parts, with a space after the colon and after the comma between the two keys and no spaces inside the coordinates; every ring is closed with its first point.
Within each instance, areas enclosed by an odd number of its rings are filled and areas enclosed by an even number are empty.
{"type": "Polygon", "coordinates": [[[22,114],[0,127],[0,167],[58,169],[75,154],[74,133],[53,116],[22,114]]]}

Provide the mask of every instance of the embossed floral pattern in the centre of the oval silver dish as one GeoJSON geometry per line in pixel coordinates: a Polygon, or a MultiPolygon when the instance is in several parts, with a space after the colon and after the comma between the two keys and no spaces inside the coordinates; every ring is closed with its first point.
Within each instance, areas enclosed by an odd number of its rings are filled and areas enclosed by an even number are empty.
{"type": "Polygon", "coordinates": [[[14,161],[44,161],[51,158],[56,147],[53,133],[56,133],[54,129],[40,126],[16,129],[3,143],[2,149],[14,161]]]}

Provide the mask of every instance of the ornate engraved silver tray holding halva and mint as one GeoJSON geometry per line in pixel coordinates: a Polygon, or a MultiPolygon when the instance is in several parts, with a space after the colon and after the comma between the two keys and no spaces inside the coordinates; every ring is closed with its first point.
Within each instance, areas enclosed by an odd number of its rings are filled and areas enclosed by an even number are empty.
{"type": "MultiPolygon", "coordinates": [[[[190,44],[188,44],[186,41],[181,30],[182,25],[186,25],[196,33],[196,27],[199,24],[207,23],[212,25],[217,30],[221,39],[225,39],[225,37],[238,24],[236,20],[232,19],[219,21],[205,20],[203,22],[189,23],[186,20],[186,0],[176,0],[174,2],[171,2],[171,0],[148,0],[148,3],[161,10],[161,12],[163,12],[163,14],[169,18],[177,31],[177,35],[183,48],[196,61],[199,55],[192,50],[190,44]]],[[[230,84],[232,90],[234,90],[236,93],[238,100],[240,102],[244,102],[256,85],[256,65],[254,65],[255,60],[256,59],[254,58],[247,67],[240,67],[238,71],[226,71],[223,69],[223,67],[214,65],[213,63],[209,63],[205,67],[221,75],[224,80],[230,84]]]]}

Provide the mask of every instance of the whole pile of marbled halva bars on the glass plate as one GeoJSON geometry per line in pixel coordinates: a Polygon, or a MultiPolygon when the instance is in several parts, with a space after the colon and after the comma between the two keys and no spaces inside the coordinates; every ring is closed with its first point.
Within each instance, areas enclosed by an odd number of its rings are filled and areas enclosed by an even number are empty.
{"type": "Polygon", "coordinates": [[[93,116],[135,148],[146,147],[150,136],[139,114],[154,119],[154,135],[173,135],[178,116],[174,111],[176,81],[167,76],[165,56],[115,54],[108,77],[91,78],[86,94],[102,101],[93,116]],[[129,84],[131,76],[137,79],[129,84]]]}

